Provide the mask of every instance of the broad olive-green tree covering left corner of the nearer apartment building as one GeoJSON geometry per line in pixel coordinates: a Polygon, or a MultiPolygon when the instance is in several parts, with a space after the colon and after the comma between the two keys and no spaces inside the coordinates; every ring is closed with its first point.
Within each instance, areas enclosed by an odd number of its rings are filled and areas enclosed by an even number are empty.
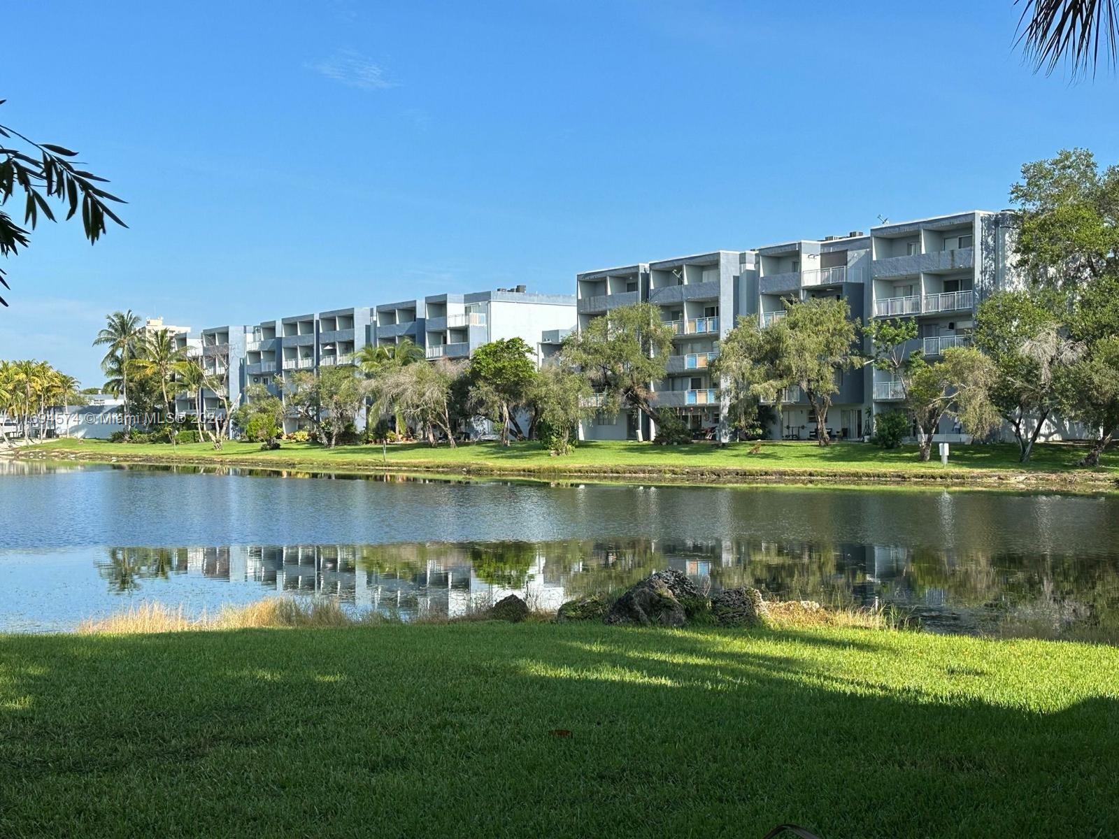
{"type": "Polygon", "coordinates": [[[611,309],[567,336],[561,358],[582,369],[591,387],[602,394],[602,409],[636,411],[656,423],[660,417],[651,405],[650,383],[665,377],[671,343],[673,328],[660,320],[660,310],[634,303],[611,309]]]}

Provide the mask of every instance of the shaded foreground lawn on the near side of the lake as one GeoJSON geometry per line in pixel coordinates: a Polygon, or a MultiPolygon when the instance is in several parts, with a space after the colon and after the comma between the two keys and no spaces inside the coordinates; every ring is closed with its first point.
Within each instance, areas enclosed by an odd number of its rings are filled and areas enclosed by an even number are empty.
{"type": "Polygon", "coordinates": [[[0,836],[1119,832],[1119,650],[459,623],[0,637],[0,836]]]}

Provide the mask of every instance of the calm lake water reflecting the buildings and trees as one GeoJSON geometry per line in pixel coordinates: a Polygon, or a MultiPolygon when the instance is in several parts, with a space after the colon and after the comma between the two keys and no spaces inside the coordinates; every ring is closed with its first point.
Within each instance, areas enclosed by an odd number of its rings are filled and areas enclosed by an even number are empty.
{"type": "Polygon", "coordinates": [[[1119,498],[335,479],[0,461],[0,631],[263,596],[461,614],[675,567],[944,631],[1119,620],[1119,498]]]}

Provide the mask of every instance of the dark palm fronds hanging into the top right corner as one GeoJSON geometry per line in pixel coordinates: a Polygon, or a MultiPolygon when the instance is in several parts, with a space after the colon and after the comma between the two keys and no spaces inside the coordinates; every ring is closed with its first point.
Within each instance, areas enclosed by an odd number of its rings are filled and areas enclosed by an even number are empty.
{"type": "Polygon", "coordinates": [[[1103,60],[1116,63],[1119,40],[1119,0],[1015,0],[1022,2],[1018,29],[1026,56],[1035,69],[1050,74],[1062,58],[1072,72],[1096,72],[1103,60]]]}

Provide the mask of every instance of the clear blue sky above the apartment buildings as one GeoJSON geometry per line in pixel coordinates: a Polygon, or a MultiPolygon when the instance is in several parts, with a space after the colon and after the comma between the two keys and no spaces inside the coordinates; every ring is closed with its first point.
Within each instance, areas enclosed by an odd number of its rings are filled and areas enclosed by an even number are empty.
{"type": "Polygon", "coordinates": [[[1119,160],[1119,83],[1034,75],[1010,0],[6,4],[0,122],[129,200],[6,267],[0,358],[100,385],[133,309],[195,327],[1006,206],[1119,160]],[[49,8],[49,12],[48,9],[49,8]]]}

